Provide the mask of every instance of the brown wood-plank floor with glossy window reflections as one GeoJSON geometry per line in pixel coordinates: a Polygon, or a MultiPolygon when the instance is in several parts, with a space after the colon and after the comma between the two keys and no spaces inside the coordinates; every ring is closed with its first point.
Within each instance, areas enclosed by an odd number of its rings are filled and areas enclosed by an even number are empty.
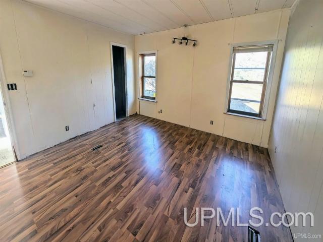
{"type": "MultiPolygon", "coordinates": [[[[183,208],[284,207],[267,150],[133,115],[0,169],[0,241],[247,241],[183,208]],[[91,148],[101,144],[98,151],[91,148]]],[[[257,221],[256,221],[257,222],[257,221]]],[[[292,241],[261,226],[261,241],[292,241]]]]}

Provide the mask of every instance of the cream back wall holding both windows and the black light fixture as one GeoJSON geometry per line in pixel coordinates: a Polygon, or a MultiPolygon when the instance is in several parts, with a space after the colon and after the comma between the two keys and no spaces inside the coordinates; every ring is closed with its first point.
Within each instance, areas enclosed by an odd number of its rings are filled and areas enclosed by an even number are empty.
{"type": "Polygon", "coordinates": [[[137,101],[141,114],[267,147],[281,70],[290,9],[221,20],[135,37],[138,52],[157,50],[157,103],[137,101]],[[198,40],[196,47],[171,44],[172,37],[198,40]],[[267,119],[224,114],[232,43],[280,40],[267,119]],[[163,113],[158,110],[163,109],[163,113]],[[213,125],[210,125],[213,120],[213,125]]]}

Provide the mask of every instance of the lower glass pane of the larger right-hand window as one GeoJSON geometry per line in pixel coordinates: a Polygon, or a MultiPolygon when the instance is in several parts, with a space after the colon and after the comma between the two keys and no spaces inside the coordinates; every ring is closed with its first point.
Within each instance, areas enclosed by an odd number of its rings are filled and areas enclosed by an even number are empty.
{"type": "Polygon", "coordinates": [[[262,84],[232,83],[230,109],[259,113],[262,84]]]}

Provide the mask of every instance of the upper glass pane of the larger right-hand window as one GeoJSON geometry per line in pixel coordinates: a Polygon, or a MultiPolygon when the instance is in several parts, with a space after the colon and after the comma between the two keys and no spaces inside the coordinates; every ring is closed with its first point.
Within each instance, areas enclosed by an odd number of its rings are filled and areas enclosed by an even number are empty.
{"type": "Polygon", "coordinates": [[[263,81],[268,52],[236,53],[233,80],[263,81]]]}

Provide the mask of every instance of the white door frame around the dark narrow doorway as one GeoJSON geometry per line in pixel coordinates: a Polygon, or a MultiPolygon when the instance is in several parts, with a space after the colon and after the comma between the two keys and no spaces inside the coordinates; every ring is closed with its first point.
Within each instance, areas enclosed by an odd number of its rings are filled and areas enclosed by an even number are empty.
{"type": "Polygon", "coordinates": [[[116,99],[115,99],[115,75],[114,75],[114,68],[113,68],[113,52],[112,46],[119,46],[123,47],[124,53],[124,65],[125,65],[125,93],[126,93],[126,116],[129,117],[129,110],[128,110],[128,81],[127,81],[127,45],[120,44],[116,42],[110,42],[110,55],[111,55],[111,75],[112,75],[112,96],[113,96],[113,112],[114,112],[114,120],[117,120],[116,114],[116,99]]]}

